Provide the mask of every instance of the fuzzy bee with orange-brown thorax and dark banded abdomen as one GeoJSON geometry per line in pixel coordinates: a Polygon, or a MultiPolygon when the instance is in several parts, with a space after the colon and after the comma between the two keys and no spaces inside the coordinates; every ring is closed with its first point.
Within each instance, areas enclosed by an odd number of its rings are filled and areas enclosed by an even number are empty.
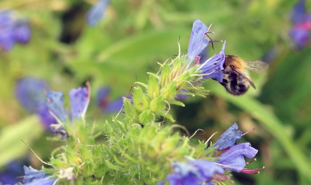
{"type": "Polygon", "coordinates": [[[268,64],[259,60],[244,61],[235,55],[225,55],[224,78],[220,84],[225,87],[231,95],[244,95],[249,86],[256,89],[255,84],[251,81],[248,70],[262,72],[268,68],[268,64]]]}

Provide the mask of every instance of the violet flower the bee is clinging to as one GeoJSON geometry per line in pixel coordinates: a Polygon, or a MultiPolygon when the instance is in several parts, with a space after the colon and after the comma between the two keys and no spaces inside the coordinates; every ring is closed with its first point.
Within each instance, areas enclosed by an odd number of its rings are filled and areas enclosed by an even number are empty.
{"type": "Polygon", "coordinates": [[[224,70],[225,44],[226,41],[222,45],[222,49],[219,53],[216,53],[214,56],[201,64],[199,70],[201,71],[201,74],[206,74],[202,76],[202,78],[213,78],[219,82],[222,82],[224,75],[221,71],[224,70]]]}

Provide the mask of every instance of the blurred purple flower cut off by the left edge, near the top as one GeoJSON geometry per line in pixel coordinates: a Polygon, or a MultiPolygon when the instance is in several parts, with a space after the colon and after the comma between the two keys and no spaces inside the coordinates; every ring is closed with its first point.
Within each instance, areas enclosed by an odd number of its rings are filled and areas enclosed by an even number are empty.
{"type": "Polygon", "coordinates": [[[14,18],[12,11],[0,10],[0,48],[10,51],[16,42],[27,44],[31,31],[28,22],[14,18]]]}

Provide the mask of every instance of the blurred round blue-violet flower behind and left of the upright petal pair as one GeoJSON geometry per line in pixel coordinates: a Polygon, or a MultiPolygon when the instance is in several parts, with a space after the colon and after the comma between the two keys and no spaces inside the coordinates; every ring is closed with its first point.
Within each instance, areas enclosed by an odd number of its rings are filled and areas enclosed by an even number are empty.
{"type": "Polygon", "coordinates": [[[35,113],[39,106],[45,104],[44,90],[46,88],[46,83],[41,79],[21,78],[16,83],[15,96],[30,113],[35,113]]]}

